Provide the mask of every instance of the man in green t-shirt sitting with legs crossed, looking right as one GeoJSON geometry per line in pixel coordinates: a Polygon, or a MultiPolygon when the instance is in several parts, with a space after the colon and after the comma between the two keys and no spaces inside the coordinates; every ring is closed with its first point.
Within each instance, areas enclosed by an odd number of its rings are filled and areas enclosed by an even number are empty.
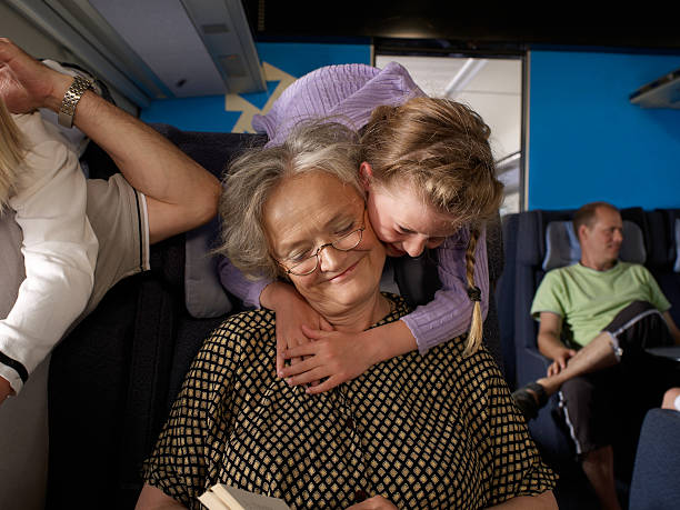
{"type": "Polygon", "coordinates": [[[619,378],[639,377],[636,367],[646,359],[644,348],[680,344],[680,330],[651,273],[619,261],[623,221],[613,206],[583,206],[573,227],[580,262],[548,272],[531,307],[540,320],[538,348],[552,363],[547,377],[513,397],[529,419],[560,391],[583,471],[602,508],[619,509],[611,447],[619,378]]]}

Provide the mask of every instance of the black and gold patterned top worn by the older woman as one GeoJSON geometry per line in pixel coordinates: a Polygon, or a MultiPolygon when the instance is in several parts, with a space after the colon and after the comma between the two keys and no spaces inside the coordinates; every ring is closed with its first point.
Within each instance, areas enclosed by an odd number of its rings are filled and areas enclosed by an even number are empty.
{"type": "MultiPolygon", "coordinates": [[[[376,326],[409,312],[396,310],[376,326]]],[[[310,396],[276,374],[274,314],[228,318],[198,353],[143,478],[189,508],[217,482],[291,508],[483,508],[553,488],[491,356],[461,341],[310,396]]]]}

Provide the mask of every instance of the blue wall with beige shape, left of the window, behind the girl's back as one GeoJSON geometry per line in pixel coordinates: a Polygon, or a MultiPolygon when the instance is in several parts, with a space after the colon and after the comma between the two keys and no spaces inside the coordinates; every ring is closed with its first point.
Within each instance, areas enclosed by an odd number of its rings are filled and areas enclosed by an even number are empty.
{"type": "MultiPolygon", "coordinates": [[[[280,71],[300,78],[308,72],[336,63],[371,63],[371,48],[367,44],[326,44],[261,42],[257,44],[260,62],[267,62],[280,71]]],[[[272,94],[280,94],[279,81],[268,81],[267,91],[240,94],[253,106],[250,117],[264,109],[272,94]]],[[[224,110],[224,96],[167,99],[153,101],[143,109],[140,118],[146,122],[162,122],[189,131],[232,131],[241,117],[240,111],[224,110]]]]}

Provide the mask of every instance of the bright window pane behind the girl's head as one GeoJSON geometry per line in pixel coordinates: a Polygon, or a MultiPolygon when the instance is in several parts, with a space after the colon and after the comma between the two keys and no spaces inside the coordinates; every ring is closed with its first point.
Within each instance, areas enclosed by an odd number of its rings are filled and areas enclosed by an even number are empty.
{"type": "Polygon", "coordinates": [[[506,186],[501,216],[522,209],[522,60],[376,53],[376,66],[396,61],[428,94],[460,101],[491,128],[491,149],[506,186]]]}

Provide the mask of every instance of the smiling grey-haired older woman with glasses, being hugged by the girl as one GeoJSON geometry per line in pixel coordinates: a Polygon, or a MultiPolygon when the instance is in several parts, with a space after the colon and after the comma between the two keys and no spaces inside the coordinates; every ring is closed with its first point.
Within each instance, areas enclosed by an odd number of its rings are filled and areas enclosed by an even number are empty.
{"type": "MultiPolygon", "coordinates": [[[[247,274],[283,276],[337,330],[409,312],[379,290],[358,148],[339,124],[297,130],[232,164],[223,248],[247,274]]],[[[200,508],[217,482],[292,508],[556,508],[501,373],[464,342],[410,352],[328,392],[276,373],[274,314],[238,313],[206,341],[144,463],[138,508],[200,508]],[[371,498],[364,501],[367,498],[371,498]]]]}

